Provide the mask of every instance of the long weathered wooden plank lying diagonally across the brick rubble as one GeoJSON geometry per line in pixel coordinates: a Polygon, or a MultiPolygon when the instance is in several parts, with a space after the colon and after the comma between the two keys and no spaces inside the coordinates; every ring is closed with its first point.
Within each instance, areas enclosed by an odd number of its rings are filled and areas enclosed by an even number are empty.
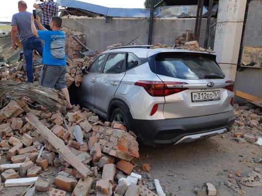
{"type": "Polygon", "coordinates": [[[45,139],[59,152],[64,160],[77,169],[83,177],[91,174],[91,171],[66,147],[66,145],[57,138],[57,136],[43,125],[32,113],[27,113],[26,120],[38,130],[45,139]]]}

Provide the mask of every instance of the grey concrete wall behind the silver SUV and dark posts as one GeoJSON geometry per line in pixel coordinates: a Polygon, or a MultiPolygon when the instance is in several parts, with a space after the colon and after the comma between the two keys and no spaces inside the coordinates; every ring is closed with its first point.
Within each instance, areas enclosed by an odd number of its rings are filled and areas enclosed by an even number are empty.
{"type": "MultiPolygon", "coordinates": [[[[110,18],[105,17],[63,17],[63,27],[82,31],[86,34],[86,46],[92,50],[105,50],[107,46],[122,43],[147,45],[149,19],[145,18],[110,18]],[[75,19],[73,19],[75,18],[75,19]],[[134,40],[135,39],[135,40],[134,40]],[[133,41],[134,40],[134,41],[133,41]]],[[[152,45],[176,44],[177,36],[194,32],[195,18],[155,18],[153,25],[152,45]]],[[[211,19],[211,25],[215,19],[211,19]]],[[[202,19],[199,45],[203,47],[207,19],[202,19]]],[[[215,26],[211,27],[209,46],[213,48],[215,26]]],[[[192,40],[189,40],[192,41],[192,40]]]]}

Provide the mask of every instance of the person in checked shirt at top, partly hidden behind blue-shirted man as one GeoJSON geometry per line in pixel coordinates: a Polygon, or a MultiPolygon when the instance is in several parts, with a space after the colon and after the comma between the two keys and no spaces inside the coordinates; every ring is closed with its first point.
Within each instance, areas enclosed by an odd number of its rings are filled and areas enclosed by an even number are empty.
{"type": "Polygon", "coordinates": [[[52,16],[58,16],[58,6],[53,2],[53,0],[47,0],[46,2],[39,2],[36,0],[33,7],[36,9],[41,9],[43,18],[42,18],[42,25],[47,29],[50,29],[50,19],[52,16]]]}

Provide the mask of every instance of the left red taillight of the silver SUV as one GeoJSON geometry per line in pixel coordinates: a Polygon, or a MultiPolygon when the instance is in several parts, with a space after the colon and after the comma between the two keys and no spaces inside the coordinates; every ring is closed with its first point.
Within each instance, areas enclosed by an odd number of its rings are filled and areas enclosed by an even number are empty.
{"type": "Polygon", "coordinates": [[[188,83],[183,82],[155,82],[155,81],[138,81],[136,86],[144,87],[146,92],[151,96],[168,96],[175,94],[188,88],[184,88],[183,85],[188,83]]]}

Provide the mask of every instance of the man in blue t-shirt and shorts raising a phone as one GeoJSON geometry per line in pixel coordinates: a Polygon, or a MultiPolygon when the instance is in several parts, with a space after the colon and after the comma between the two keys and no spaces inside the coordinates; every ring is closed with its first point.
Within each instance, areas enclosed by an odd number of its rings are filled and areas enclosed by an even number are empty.
{"type": "Polygon", "coordinates": [[[52,16],[50,28],[48,31],[43,25],[39,16],[34,20],[31,15],[31,28],[34,35],[44,40],[44,51],[42,63],[44,64],[40,75],[40,85],[60,89],[65,95],[67,111],[73,106],[70,103],[69,92],[66,87],[66,60],[65,60],[65,44],[66,35],[61,31],[62,19],[58,16],[52,16]],[[34,21],[38,25],[37,30],[34,21]]]}

